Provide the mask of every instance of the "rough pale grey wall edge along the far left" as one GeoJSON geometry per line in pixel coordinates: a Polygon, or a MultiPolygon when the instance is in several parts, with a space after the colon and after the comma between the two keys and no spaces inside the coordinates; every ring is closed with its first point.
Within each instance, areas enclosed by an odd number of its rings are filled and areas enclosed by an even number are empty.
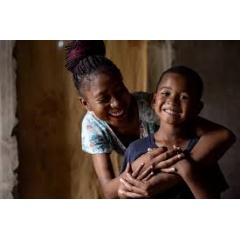
{"type": "Polygon", "coordinates": [[[17,124],[15,41],[0,41],[0,198],[12,198],[18,166],[17,141],[12,135],[17,124]]]}

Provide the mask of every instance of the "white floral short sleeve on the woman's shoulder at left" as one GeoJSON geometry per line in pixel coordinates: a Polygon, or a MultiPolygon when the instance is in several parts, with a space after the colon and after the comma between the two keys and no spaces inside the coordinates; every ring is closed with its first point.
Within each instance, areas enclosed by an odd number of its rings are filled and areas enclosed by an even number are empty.
{"type": "Polygon", "coordinates": [[[86,114],[82,121],[82,150],[90,154],[112,152],[106,126],[91,114],[86,114]]]}

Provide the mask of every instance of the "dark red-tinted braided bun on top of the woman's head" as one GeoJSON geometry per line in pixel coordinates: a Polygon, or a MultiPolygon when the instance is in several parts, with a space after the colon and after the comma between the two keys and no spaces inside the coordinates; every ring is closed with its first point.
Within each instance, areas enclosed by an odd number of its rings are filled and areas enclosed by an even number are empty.
{"type": "Polygon", "coordinates": [[[94,55],[105,57],[106,48],[103,40],[72,40],[66,47],[66,68],[73,72],[79,62],[94,55]]]}

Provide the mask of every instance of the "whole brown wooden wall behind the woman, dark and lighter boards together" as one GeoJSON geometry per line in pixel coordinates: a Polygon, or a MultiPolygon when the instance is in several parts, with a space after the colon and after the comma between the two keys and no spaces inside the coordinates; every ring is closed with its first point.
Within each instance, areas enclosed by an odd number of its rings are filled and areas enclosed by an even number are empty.
{"type": "MultiPolygon", "coordinates": [[[[146,90],[146,41],[105,41],[131,91],[146,90]]],[[[91,157],[81,150],[80,108],[57,41],[17,41],[20,198],[101,198],[91,157]]],[[[115,156],[115,155],[114,155],[115,156]]],[[[118,172],[121,159],[114,157],[118,172]]]]}

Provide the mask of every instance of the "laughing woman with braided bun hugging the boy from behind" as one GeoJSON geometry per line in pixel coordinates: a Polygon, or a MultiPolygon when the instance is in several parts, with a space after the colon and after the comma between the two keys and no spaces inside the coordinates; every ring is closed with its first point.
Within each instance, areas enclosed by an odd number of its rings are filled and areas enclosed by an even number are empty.
{"type": "MultiPolygon", "coordinates": [[[[123,155],[131,142],[156,131],[158,121],[151,108],[151,95],[128,92],[120,70],[105,57],[103,41],[71,41],[66,46],[66,67],[72,72],[80,102],[88,111],[82,122],[82,149],[92,154],[105,196],[118,198],[119,179],[128,169],[115,177],[110,154],[116,151],[123,155]]],[[[235,141],[228,129],[201,118],[196,121],[195,132],[200,140],[191,155],[201,164],[217,162],[235,141]]],[[[158,148],[135,163],[152,160],[158,163],[167,160],[164,167],[169,167],[178,160],[177,151],[158,148]]],[[[136,179],[136,173],[133,176],[131,186],[124,188],[126,197],[149,196],[178,182],[172,174],[154,184],[136,179]]]]}

